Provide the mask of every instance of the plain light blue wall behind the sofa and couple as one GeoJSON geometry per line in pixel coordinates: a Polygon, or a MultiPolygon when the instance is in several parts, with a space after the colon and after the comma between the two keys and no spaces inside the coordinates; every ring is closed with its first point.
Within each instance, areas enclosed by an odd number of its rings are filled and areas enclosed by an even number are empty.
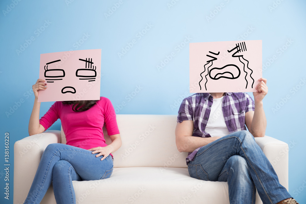
{"type": "MultiPolygon", "coordinates": [[[[304,85],[301,79],[306,76],[306,2],[180,0],[169,7],[167,4],[171,4],[171,0],[123,0],[123,4],[106,18],[104,13],[118,1],[23,0],[13,9],[7,8],[12,1],[1,1],[0,202],[13,203],[13,145],[28,136],[34,96],[27,92],[38,79],[40,54],[70,49],[102,49],[101,95],[110,98],[118,108],[118,114],[177,114],[180,98],[185,98],[185,92],[189,92],[189,47],[187,45],[177,52],[176,46],[186,36],[195,43],[237,40],[244,35],[245,40],[263,40],[263,63],[269,62],[273,55],[277,57],[263,72],[269,87],[264,98],[268,121],[266,135],[292,144],[289,149],[289,193],[300,203],[305,203],[306,86],[298,85],[304,85]],[[218,7],[221,3],[224,7],[218,7]],[[271,10],[273,4],[275,9],[271,10]],[[9,12],[3,12],[6,9],[9,12]],[[211,12],[216,14],[207,20],[211,12]],[[35,30],[40,29],[45,20],[50,25],[37,36],[35,30]],[[153,27],[141,39],[137,38],[136,34],[147,24],[153,27]],[[84,33],[90,36],[82,42],[80,39],[84,33]],[[18,55],[16,50],[20,50],[21,44],[31,36],[35,40],[18,55]],[[133,39],[137,43],[119,58],[118,52],[133,39]],[[290,39],[293,42],[286,46],[290,39]],[[83,44],[77,47],[76,41],[83,44]],[[284,52],[279,51],[282,46],[286,48],[284,52]],[[157,65],[171,52],[175,52],[175,57],[158,70],[157,65]],[[136,86],[142,89],[129,100],[128,95],[135,91],[136,86]],[[296,86],[300,88],[297,92],[292,89],[296,86]],[[286,95],[289,99],[282,102],[286,95]],[[21,99],[24,102],[20,107],[7,116],[10,107],[21,99]],[[120,107],[122,102],[126,105],[120,107]],[[277,104],[279,110],[273,111],[277,104]],[[9,201],[4,199],[3,190],[5,132],[10,135],[9,201]],[[300,193],[296,190],[299,188],[300,193]]],[[[40,116],[51,105],[52,102],[42,103],[40,116]]],[[[60,121],[52,129],[60,129],[60,121]]]]}

